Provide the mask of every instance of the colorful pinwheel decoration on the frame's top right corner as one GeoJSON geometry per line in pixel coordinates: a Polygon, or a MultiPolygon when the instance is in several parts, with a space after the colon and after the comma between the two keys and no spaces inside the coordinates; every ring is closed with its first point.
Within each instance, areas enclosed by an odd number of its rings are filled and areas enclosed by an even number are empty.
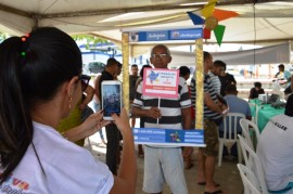
{"type": "Polygon", "coordinates": [[[201,13],[205,20],[203,20],[201,16],[192,12],[188,12],[188,15],[194,25],[204,25],[203,29],[204,39],[209,39],[211,30],[214,30],[217,43],[220,46],[226,26],[219,25],[218,22],[238,16],[239,14],[233,11],[215,9],[217,2],[218,0],[209,0],[208,3],[204,5],[201,13]]]}

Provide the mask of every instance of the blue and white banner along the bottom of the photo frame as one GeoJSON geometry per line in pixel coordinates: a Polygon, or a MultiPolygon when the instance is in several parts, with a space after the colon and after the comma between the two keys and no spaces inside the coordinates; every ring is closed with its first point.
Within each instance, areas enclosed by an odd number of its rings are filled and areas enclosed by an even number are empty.
{"type": "Polygon", "coordinates": [[[205,146],[204,130],[133,128],[136,144],[205,146]]]}

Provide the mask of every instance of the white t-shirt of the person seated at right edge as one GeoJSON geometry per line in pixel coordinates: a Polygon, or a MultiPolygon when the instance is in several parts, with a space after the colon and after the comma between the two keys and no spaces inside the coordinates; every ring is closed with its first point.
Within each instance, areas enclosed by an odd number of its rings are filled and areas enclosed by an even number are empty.
{"type": "Polygon", "coordinates": [[[271,118],[260,134],[256,154],[269,190],[282,190],[293,182],[293,117],[271,118]]]}

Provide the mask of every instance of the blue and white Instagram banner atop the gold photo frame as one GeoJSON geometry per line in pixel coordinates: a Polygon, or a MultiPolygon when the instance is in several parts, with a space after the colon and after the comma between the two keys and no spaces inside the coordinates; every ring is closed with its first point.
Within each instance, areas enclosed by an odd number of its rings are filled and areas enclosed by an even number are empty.
{"type": "Polygon", "coordinates": [[[154,31],[130,31],[129,42],[140,41],[165,41],[165,40],[196,40],[202,38],[202,28],[154,30],[154,31]]]}

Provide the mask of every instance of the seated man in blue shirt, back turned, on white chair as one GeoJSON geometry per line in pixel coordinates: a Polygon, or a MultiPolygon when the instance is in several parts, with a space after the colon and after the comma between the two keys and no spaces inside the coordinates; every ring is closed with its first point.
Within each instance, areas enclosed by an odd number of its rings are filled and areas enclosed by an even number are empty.
{"type": "MultiPolygon", "coordinates": [[[[235,85],[228,85],[225,89],[226,95],[224,99],[226,100],[228,107],[229,107],[229,113],[242,113],[246,116],[246,119],[251,120],[252,119],[252,113],[251,113],[251,107],[250,104],[243,100],[237,96],[238,91],[235,85]]],[[[225,119],[225,118],[224,118],[225,119]]],[[[237,126],[237,131],[239,134],[242,133],[242,129],[240,127],[240,124],[237,126]]],[[[219,137],[224,137],[224,124],[219,126],[219,137]]],[[[227,147],[224,148],[224,155],[228,155],[228,150],[227,147]]],[[[232,156],[238,156],[237,153],[237,144],[233,144],[231,147],[231,155],[232,156]]]]}

